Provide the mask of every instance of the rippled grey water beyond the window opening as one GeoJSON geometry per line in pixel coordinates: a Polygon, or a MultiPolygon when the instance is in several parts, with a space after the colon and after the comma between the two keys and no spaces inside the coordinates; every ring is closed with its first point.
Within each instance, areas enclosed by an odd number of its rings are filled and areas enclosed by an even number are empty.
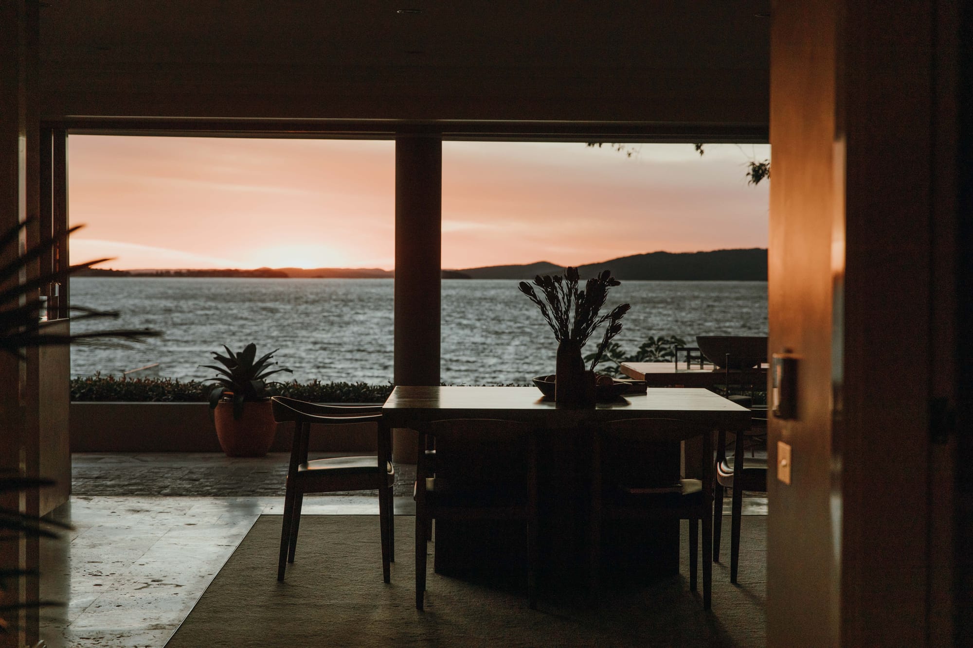
{"type": "MultiPolygon", "coordinates": [[[[163,377],[209,378],[198,367],[209,351],[257,342],[258,352],[280,348],[276,359],[294,370],[286,378],[390,382],[392,300],[391,279],[74,278],[74,304],[121,310],[119,326],[164,335],[127,347],[75,345],[71,371],[118,375],[158,362],[163,377]]],[[[625,281],[606,311],[623,302],[631,310],[617,340],[629,352],[650,335],[767,335],[766,282],[625,281]]],[[[444,280],[442,336],[446,382],[554,372],[557,342],[517,281],[444,280]]]]}

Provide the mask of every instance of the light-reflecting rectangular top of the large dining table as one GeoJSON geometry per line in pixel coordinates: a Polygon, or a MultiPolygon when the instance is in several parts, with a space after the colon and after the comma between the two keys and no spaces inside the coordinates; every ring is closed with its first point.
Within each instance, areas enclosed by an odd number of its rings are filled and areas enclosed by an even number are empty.
{"type": "Polygon", "coordinates": [[[648,389],[591,409],[572,409],[535,387],[397,386],[382,406],[392,427],[410,420],[513,418],[547,427],[598,424],[620,418],[678,418],[727,430],[746,429],[750,411],[706,389],[648,389]]]}

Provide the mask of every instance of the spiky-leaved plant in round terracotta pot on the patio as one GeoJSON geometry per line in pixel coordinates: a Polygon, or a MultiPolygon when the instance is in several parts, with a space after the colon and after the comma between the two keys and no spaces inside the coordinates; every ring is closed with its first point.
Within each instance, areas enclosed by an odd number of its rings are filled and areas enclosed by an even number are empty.
{"type": "Polygon", "coordinates": [[[209,389],[209,408],[213,410],[216,436],[227,456],[264,456],[273,444],[276,424],[270,411],[270,396],[276,395],[278,382],[267,378],[290,369],[272,369],[270,362],[279,349],[257,358],[257,345],[247,344],[239,353],[226,345],[226,355],[211,351],[219,365],[201,365],[217,375],[209,389]]]}

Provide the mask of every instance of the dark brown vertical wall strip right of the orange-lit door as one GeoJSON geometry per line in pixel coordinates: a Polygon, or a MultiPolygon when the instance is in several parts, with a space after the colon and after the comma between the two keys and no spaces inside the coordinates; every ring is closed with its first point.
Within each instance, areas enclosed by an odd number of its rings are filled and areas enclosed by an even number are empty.
{"type": "MultiPolygon", "coordinates": [[[[954,132],[938,119],[937,4],[896,1],[877,11],[846,3],[847,645],[921,645],[930,639],[929,568],[939,551],[927,535],[935,469],[929,410],[933,378],[949,373],[947,365],[933,364],[934,349],[951,337],[944,323],[936,324],[933,337],[933,269],[934,255],[951,247],[937,223],[953,217],[937,198],[955,191],[933,157],[937,131],[954,132]],[[882,485],[894,496],[876,497],[869,485],[882,485]]],[[[949,490],[939,494],[949,496],[949,490]]]]}

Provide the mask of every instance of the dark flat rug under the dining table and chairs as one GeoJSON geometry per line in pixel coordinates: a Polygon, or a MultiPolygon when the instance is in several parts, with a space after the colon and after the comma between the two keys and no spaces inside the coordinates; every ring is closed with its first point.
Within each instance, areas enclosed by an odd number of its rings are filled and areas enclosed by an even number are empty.
{"type": "Polygon", "coordinates": [[[702,607],[702,572],[700,592],[689,591],[686,522],[678,576],[637,587],[607,583],[596,609],[581,589],[542,587],[531,610],[522,585],[441,576],[430,559],[425,612],[414,607],[414,519],[396,522],[391,584],[381,580],[373,516],[305,516],[295,563],[277,583],[281,519],[261,517],[167,647],[765,643],[763,516],[743,518],[739,586],[730,584],[725,518],[726,564],[713,565],[709,612],[702,607]]]}

